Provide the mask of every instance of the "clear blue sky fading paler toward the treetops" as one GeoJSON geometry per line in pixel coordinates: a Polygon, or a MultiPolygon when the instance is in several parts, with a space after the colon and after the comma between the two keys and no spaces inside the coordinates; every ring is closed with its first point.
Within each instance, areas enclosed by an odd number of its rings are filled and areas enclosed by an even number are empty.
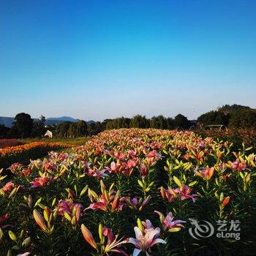
{"type": "Polygon", "coordinates": [[[256,1],[0,0],[0,116],[256,108],[256,1]]]}

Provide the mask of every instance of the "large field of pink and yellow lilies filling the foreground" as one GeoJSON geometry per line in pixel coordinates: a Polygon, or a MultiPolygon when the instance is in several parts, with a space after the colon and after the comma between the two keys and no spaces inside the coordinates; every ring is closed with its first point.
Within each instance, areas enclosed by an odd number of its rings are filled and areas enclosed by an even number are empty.
{"type": "Polygon", "coordinates": [[[0,255],[254,255],[255,170],[254,148],[159,129],[12,162],[0,255]]]}

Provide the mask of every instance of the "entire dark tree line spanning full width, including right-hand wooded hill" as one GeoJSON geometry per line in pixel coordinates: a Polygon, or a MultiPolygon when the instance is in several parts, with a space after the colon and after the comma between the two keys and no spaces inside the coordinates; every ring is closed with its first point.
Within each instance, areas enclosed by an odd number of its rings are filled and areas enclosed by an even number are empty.
{"type": "Polygon", "coordinates": [[[97,135],[105,129],[120,128],[155,128],[155,129],[191,129],[206,127],[211,124],[222,124],[225,127],[256,128],[256,110],[241,105],[225,105],[218,110],[212,110],[197,118],[196,122],[189,121],[186,116],[178,114],[175,118],[165,116],[137,115],[132,118],[105,119],[102,122],[64,121],[54,127],[45,127],[45,116],[32,119],[28,113],[18,113],[12,127],[0,124],[0,138],[35,138],[42,137],[47,129],[52,129],[54,137],[77,138],[97,135]]]}

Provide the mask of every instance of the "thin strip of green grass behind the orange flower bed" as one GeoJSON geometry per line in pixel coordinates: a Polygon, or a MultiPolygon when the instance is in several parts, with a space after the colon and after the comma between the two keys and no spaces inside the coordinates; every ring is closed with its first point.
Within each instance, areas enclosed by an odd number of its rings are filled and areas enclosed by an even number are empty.
{"type": "Polygon", "coordinates": [[[84,145],[86,141],[89,140],[89,137],[80,137],[80,138],[26,138],[19,139],[18,141],[22,144],[31,143],[31,142],[47,142],[47,143],[67,143],[74,146],[84,145]]]}

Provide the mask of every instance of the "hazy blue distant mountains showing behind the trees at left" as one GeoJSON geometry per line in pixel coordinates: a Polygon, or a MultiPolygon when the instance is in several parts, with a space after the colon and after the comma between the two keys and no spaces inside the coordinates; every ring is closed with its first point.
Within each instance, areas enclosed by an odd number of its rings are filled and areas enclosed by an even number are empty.
{"type": "MultiPolygon", "coordinates": [[[[5,117],[5,116],[0,116],[0,124],[4,124],[6,127],[12,127],[12,123],[14,122],[15,118],[14,117],[5,117]]],[[[38,120],[38,118],[34,118],[34,120],[38,120]]],[[[71,121],[73,123],[76,123],[79,121],[79,119],[77,118],[72,118],[69,116],[61,116],[61,117],[50,117],[50,118],[46,118],[45,120],[45,124],[47,125],[57,125],[57,124],[61,124],[64,121],[71,121]]],[[[86,124],[92,124],[92,123],[96,123],[93,120],[89,120],[86,121],[86,124]]]]}

